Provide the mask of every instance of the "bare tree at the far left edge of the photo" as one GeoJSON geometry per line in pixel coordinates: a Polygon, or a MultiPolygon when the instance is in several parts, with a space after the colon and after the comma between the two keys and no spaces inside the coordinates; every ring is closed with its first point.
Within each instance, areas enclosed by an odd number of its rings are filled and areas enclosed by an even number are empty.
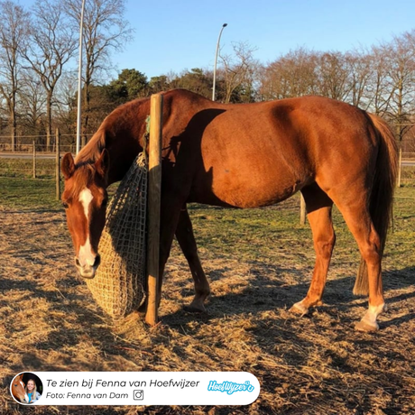
{"type": "Polygon", "coordinates": [[[20,71],[22,69],[19,47],[28,36],[29,14],[13,1],[0,2],[0,95],[5,100],[12,151],[16,145],[17,93],[20,88],[20,71]]]}

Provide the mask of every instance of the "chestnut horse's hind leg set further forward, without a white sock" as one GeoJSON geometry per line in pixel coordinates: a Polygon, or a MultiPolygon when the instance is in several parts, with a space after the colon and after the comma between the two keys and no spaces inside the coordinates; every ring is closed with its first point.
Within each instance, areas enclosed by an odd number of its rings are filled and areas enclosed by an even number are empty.
{"type": "Polygon", "coordinates": [[[318,188],[317,184],[302,189],[301,193],[306,201],[316,251],[316,264],[309,292],[303,300],[297,302],[291,308],[291,311],[304,315],[307,314],[310,307],[321,303],[331,254],[336,243],[336,235],[331,219],[333,201],[327,197],[323,190],[318,188]]]}

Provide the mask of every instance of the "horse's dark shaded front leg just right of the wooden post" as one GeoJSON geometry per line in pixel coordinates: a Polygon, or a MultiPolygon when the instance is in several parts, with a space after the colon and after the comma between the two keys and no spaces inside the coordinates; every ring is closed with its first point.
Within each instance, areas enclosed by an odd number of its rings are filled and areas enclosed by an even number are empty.
{"type": "Polygon", "coordinates": [[[187,208],[180,211],[179,223],[176,229],[176,237],[180,244],[181,251],[188,260],[190,272],[195,283],[195,298],[186,306],[187,311],[205,311],[204,301],[210,293],[209,283],[198,258],[198,247],[193,227],[191,225],[187,208]]]}

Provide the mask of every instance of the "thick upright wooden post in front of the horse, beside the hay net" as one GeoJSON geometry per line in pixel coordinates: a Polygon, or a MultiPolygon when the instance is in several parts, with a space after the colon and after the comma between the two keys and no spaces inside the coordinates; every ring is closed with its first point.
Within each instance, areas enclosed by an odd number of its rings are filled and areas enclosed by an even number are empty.
{"type": "Polygon", "coordinates": [[[161,207],[161,136],[162,136],[161,94],[152,95],[150,101],[150,142],[149,142],[149,189],[147,202],[147,277],[148,297],[145,322],[151,326],[158,323],[160,254],[160,207],[161,207]]]}

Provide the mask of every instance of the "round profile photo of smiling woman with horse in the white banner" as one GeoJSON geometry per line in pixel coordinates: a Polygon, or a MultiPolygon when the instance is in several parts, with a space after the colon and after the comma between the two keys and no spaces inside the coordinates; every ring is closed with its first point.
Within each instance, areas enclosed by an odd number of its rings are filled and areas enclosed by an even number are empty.
{"type": "Polygon", "coordinates": [[[17,403],[32,405],[42,398],[43,383],[38,375],[22,372],[14,376],[10,383],[10,393],[17,403]]]}

